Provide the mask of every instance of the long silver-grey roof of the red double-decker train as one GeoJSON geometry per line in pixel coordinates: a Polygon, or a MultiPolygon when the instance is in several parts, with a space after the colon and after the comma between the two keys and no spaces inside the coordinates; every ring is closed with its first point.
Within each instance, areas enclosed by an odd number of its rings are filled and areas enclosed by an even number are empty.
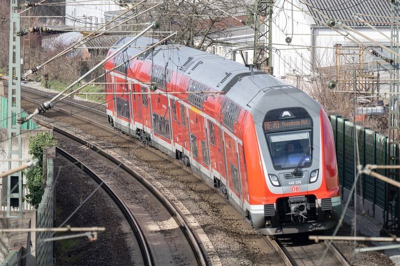
{"type": "MultiPolygon", "coordinates": [[[[126,43],[132,37],[123,37],[114,47],[126,43]]],[[[126,54],[131,57],[143,51],[158,39],[139,37],[126,54]]],[[[115,49],[115,48],[111,48],[115,49]]],[[[124,52],[125,53],[125,52],[124,52]]],[[[217,91],[225,91],[232,101],[246,109],[257,109],[265,114],[266,109],[285,106],[308,106],[319,113],[320,105],[299,89],[268,75],[262,71],[223,58],[221,56],[181,45],[159,45],[151,52],[146,52],[145,60],[166,67],[172,71],[184,72],[188,77],[217,91]],[[279,90],[279,92],[276,92],[279,90]],[[268,104],[265,105],[266,98],[268,104]]]]}

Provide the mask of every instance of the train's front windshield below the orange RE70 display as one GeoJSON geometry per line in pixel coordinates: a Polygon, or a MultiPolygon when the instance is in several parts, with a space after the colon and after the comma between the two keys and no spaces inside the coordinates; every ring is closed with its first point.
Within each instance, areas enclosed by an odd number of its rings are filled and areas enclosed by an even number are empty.
{"type": "Polygon", "coordinates": [[[311,165],[311,130],[270,133],[266,137],[275,169],[311,165]]]}

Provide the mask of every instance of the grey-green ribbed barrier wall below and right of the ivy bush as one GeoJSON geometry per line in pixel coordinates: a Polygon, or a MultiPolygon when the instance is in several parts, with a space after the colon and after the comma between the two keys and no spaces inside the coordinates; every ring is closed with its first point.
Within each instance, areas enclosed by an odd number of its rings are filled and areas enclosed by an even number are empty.
{"type": "MultiPolygon", "coordinates": [[[[41,202],[36,211],[37,228],[53,228],[54,219],[54,161],[47,159],[47,181],[41,202]]],[[[41,240],[52,236],[52,232],[36,233],[36,265],[53,265],[53,242],[41,240]]]]}

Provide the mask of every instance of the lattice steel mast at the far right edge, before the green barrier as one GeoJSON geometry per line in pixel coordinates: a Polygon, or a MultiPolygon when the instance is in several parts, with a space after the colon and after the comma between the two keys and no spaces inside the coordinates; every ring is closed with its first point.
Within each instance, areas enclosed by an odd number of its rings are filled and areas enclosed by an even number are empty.
{"type": "MultiPolygon", "coordinates": [[[[390,25],[390,50],[392,71],[390,72],[390,98],[389,98],[389,132],[388,132],[388,164],[398,165],[399,164],[399,147],[400,147],[400,104],[399,104],[399,47],[396,43],[399,41],[398,29],[400,15],[398,10],[398,0],[391,0],[391,25],[390,25]]],[[[389,169],[388,177],[400,181],[400,175],[398,169],[389,169]]],[[[395,234],[400,233],[400,191],[398,188],[386,184],[386,213],[384,224],[382,228],[383,234],[395,234]],[[389,213],[391,215],[389,215],[389,213]]]]}

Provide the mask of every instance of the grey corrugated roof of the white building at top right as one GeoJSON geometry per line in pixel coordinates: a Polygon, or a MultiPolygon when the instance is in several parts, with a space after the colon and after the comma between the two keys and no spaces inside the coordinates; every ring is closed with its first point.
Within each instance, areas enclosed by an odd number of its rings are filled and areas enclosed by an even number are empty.
{"type": "Polygon", "coordinates": [[[299,0],[307,6],[316,25],[324,25],[326,15],[348,26],[365,26],[361,20],[374,26],[389,26],[391,4],[388,0],[299,0]],[[322,14],[321,14],[322,13],[322,14]]]}

